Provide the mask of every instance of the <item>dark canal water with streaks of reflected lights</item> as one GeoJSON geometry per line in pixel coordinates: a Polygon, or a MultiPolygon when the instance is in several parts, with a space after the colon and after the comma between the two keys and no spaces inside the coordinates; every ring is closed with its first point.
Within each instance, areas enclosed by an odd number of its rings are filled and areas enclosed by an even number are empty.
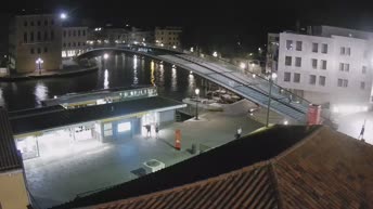
{"type": "Polygon", "coordinates": [[[106,61],[97,57],[97,62],[98,71],[77,77],[0,82],[0,106],[9,110],[33,108],[54,95],[152,83],[160,95],[181,101],[192,95],[201,81],[185,69],[142,56],[117,54],[106,61]]]}

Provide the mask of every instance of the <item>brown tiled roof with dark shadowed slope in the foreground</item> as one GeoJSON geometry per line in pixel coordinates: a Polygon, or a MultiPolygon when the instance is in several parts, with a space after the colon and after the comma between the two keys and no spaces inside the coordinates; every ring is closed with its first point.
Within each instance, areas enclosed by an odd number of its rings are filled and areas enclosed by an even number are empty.
{"type": "Polygon", "coordinates": [[[275,126],[53,209],[372,208],[372,154],[326,127],[275,126]]]}

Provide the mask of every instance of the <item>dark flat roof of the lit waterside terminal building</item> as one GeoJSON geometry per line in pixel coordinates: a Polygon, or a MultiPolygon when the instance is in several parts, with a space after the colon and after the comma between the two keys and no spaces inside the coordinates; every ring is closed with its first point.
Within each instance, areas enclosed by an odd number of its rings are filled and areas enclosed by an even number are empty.
{"type": "Polygon", "coordinates": [[[14,134],[29,133],[104,118],[139,114],[146,110],[182,107],[182,103],[160,96],[138,99],[88,106],[75,109],[60,107],[36,108],[12,113],[10,118],[14,134]]]}

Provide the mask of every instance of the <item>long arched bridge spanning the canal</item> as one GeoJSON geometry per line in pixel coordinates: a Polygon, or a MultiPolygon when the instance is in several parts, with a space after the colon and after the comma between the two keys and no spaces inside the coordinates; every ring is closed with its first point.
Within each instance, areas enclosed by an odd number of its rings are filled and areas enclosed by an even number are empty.
{"type": "Polygon", "coordinates": [[[103,51],[133,53],[173,64],[178,67],[191,70],[194,74],[266,108],[269,103],[269,97],[271,97],[271,110],[285,117],[293,118],[298,121],[299,125],[304,125],[307,121],[307,113],[309,105],[311,104],[309,101],[282,89],[260,75],[244,71],[235,65],[222,60],[155,45],[116,45],[97,48],[79,55],[78,58],[91,56],[92,53],[102,54],[103,51]],[[270,89],[271,96],[269,96],[270,89]]]}

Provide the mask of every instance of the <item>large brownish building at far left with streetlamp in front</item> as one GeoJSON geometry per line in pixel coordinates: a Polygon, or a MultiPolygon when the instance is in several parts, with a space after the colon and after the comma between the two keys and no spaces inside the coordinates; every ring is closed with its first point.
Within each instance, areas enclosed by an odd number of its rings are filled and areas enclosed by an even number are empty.
{"type": "Polygon", "coordinates": [[[62,68],[62,26],[54,14],[17,15],[10,24],[11,73],[33,73],[62,68]]]}

